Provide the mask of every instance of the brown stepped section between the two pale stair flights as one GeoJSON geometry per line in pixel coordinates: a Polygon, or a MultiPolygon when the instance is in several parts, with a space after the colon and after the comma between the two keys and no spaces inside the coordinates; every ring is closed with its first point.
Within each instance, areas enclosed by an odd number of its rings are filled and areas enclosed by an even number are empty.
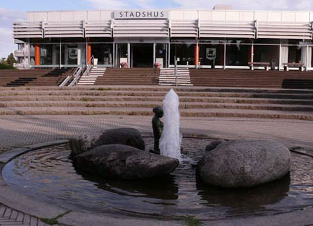
{"type": "Polygon", "coordinates": [[[108,68],[95,85],[158,85],[160,69],[108,68]]]}

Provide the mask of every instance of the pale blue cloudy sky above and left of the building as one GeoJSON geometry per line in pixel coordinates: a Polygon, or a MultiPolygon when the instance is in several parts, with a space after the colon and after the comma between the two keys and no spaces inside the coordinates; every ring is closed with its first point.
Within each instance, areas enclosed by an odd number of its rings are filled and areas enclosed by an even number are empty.
{"type": "Polygon", "coordinates": [[[312,0],[0,0],[0,58],[16,47],[12,39],[13,21],[22,21],[27,11],[93,9],[209,9],[217,4],[232,5],[235,10],[313,11],[312,0]],[[296,2],[296,4],[295,4],[296,2]]]}

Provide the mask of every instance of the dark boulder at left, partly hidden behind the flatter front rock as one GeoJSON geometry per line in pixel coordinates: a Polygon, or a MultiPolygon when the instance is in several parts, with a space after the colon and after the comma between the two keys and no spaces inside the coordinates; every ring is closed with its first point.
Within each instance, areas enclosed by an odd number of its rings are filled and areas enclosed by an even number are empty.
{"type": "Polygon", "coordinates": [[[145,150],[145,141],[141,133],[133,128],[118,128],[83,134],[70,139],[72,155],[79,155],[97,146],[104,144],[125,144],[134,148],[145,150]]]}

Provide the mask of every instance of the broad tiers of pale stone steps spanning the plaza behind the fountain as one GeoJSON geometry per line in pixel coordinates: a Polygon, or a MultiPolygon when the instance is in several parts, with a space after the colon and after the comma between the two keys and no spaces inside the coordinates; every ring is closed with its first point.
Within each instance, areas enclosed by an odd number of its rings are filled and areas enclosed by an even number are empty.
{"type": "MultiPolygon", "coordinates": [[[[0,114],[152,116],[171,87],[0,87],[0,114]]],[[[180,114],[313,120],[313,90],[175,87],[180,114]]]]}

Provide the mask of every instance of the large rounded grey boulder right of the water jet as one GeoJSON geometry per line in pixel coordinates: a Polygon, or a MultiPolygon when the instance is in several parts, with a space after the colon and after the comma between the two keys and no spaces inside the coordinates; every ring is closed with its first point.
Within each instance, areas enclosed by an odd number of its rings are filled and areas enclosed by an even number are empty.
{"type": "Polygon", "coordinates": [[[278,180],[290,170],[289,149],[275,141],[235,140],[219,144],[198,162],[204,183],[248,187],[278,180]]]}

